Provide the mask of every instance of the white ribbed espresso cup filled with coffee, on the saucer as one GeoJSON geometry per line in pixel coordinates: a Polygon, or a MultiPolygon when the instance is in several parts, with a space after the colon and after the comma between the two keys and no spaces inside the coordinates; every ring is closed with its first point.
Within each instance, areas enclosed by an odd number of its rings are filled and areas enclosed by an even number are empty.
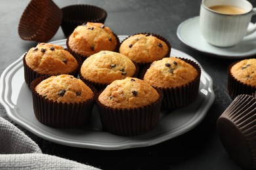
{"type": "Polygon", "coordinates": [[[214,46],[234,46],[256,31],[248,27],[256,8],[246,0],[202,0],[200,29],[207,42],[214,46]]]}

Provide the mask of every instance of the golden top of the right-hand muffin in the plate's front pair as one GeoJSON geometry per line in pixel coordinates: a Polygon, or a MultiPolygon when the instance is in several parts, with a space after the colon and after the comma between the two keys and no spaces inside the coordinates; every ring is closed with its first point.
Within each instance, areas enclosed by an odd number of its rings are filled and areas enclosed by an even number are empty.
{"type": "Polygon", "coordinates": [[[159,97],[159,93],[144,80],[127,77],[108,85],[98,96],[98,101],[106,107],[131,109],[154,103],[159,97]]]}

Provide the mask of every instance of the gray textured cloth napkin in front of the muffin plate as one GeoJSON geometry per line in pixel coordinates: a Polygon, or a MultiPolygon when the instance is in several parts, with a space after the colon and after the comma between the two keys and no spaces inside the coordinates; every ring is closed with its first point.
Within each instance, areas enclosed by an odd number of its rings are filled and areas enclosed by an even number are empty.
{"type": "Polygon", "coordinates": [[[0,169],[97,169],[72,160],[43,154],[16,126],[0,117],[0,169]]]}

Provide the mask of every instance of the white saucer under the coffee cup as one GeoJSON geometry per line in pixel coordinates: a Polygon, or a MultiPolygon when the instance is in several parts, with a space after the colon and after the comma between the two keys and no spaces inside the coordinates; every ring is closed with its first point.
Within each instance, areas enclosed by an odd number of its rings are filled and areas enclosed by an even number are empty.
{"type": "Polygon", "coordinates": [[[199,16],[182,22],[177,29],[177,36],[184,44],[210,56],[238,59],[249,58],[256,54],[256,32],[244,37],[236,46],[219,48],[209,44],[201,35],[199,16]]]}

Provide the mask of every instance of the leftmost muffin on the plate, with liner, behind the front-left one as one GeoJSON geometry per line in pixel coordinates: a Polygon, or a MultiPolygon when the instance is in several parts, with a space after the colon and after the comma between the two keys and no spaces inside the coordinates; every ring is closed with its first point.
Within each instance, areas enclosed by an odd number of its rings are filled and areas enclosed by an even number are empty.
{"type": "Polygon", "coordinates": [[[62,46],[39,43],[24,55],[25,82],[30,86],[33,79],[47,75],[78,75],[79,61],[62,46]]]}

